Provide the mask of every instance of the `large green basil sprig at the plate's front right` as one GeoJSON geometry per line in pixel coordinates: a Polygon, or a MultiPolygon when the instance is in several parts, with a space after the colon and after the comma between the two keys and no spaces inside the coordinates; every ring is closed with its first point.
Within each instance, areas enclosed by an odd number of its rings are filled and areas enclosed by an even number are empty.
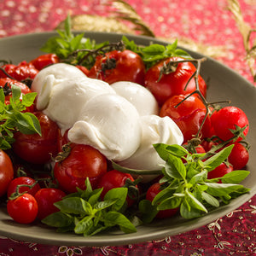
{"type": "Polygon", "coordinates": [[[179,145],[154,144],[160,157],[166,161],[160,179],[162,190],[152,203],[143,200],[139,204],[143,221],[151,222],[160,210],[179,207],[183,218],[198,218],[232,198],[247,193],[250,189],[239,184],[250,173],[237,170],[223,177],[207,178],[229,156],[234,145],[222,149],[207,160],[205,154],[189,154],[179,145]],[[218,183],[218,181],[221,183],[218,183]],[[148,213],[149,212],[149,213],[148,213]]]}

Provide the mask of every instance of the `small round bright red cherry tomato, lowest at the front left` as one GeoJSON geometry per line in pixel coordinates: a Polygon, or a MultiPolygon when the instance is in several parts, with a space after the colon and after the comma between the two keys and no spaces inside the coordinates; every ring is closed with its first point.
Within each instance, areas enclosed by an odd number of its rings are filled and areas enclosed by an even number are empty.
{"type": "Polygon", "coordinates": [[[29,224],[37,218],[38,202],[32,195],[25,193],[8,201],[7,212],[15,222],[29,224]]]}

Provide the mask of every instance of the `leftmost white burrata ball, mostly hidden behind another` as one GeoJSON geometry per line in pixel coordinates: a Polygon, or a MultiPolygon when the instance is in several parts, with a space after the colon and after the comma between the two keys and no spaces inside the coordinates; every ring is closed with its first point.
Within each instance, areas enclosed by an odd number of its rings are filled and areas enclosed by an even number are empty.
{"type": "Polygon", "coordinates": [[[49,67],[44,67],[38,72],[32,81],[31,90],[39,93],[48,75],[53,75],[56,80],[86,78],[86,75],[78,67],[66,63],[56,63],[49,67]]]}

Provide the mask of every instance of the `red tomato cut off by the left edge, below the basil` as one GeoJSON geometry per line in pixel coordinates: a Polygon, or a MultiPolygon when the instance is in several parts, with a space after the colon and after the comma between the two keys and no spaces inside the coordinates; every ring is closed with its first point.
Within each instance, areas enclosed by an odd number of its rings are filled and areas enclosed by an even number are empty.
{"type": "Polygon", "coordinates": [[[14,167],[9,155],[0,149],[0,197],[7,192],[9,183],[14,178],[14,167]]]}

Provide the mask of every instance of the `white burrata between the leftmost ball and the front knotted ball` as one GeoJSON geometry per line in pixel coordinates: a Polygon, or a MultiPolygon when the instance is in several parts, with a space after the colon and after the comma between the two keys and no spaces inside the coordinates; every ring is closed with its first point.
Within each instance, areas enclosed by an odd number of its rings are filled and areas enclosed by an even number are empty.
{"type": "Polygon", "coordinates": [[[108,83],[98,79],[63,79],[56,83],[54,78],[48,77],[46,81],[46,88],[49,89],[41,90],[37,106],[44,105],[43,112],[59,125],[61,133],[79,120],[80,110],[91,98],[101,94],[115,94],[108,83]]]}

